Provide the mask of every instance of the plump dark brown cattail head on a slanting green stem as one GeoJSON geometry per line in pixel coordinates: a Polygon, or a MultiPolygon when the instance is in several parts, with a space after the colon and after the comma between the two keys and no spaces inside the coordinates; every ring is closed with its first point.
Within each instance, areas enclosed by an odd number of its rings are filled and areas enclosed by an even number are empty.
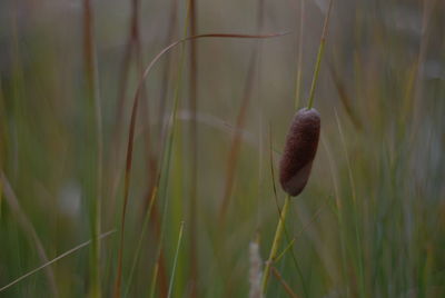
{"type": "Polygon", "coordinates": [[[305,188],[317,152],[320,117],[316,109],[300,109],[287,133],[285,150],[279,163],[279,182],[295,197],[305,188]]]}

